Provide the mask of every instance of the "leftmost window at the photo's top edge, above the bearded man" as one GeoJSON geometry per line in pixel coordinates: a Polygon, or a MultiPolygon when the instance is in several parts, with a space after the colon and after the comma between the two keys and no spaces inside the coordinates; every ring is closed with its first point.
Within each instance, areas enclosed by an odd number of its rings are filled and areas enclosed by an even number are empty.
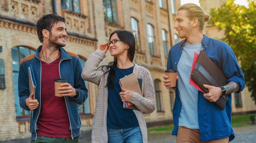
{"type": "Polygon", "coordinates": [[[61,8],[80,13],[79,0],[61,0],[61,8]]]}

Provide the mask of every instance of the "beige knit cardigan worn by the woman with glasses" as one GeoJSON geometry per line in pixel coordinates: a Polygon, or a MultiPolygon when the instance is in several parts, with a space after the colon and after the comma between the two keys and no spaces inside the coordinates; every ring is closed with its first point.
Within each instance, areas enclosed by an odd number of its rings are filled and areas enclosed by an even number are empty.
{"type": "MultiPolygon", "coordinates": [[[[99,63],[105,57],[106,57],[105,53],[97,49],[94,53],[92,53],[92,55],[86,61],[85,67],[81,74],[84,80],[95,83],[96,85],[99,86],[96,107],[95,107],[93,129],[92,129],[92,143],[108,142],[108,133],[107,133],[108,88],[105,87],[107,85],[108,73],[103,75],[106,68],[103,68],[103,70],[97,69],[99,63]]],[[[142,112],[152,113],[156,108],[154,86],[153,86],[151,75],[146,68],[135,64],[133,68],[133,73],[135,73],[138,78],[142,79],[143,97],[138,93],[133,92],[132,98],[129,102],[136,105],[136,107],[140,110],[140,111],[138,110],[133,110],[133,111],[139,122],[139,128],[142,134],[143,143],[147,143],[147,127],[146,127],[146,122],[142,115],[142,112]]]]}

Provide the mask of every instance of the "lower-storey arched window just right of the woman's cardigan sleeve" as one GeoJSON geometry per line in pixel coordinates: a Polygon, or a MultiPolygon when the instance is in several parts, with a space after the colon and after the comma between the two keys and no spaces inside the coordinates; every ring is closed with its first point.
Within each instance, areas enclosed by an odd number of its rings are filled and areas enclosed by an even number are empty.
{"type": "Polygon", "coordinates": [[[155,84],[155,95],[156,95],[156,104],[157,104],[157,112],[163,112],[163,104],[162,104],[162,91],[160,87],[161,81],[156,79],[154,81],[155,84]]]}

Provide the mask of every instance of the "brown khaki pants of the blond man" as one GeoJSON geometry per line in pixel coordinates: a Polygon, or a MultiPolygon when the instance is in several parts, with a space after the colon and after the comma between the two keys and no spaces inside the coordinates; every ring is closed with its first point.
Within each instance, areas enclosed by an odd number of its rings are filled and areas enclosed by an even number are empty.
{"type": "Polygon", "coordinates": [[[201,141],[199,129],[189,129],[184,126],[178,127],[176,143],[228,143],[229,137],[220,138],[210,141],[201,141]]]}

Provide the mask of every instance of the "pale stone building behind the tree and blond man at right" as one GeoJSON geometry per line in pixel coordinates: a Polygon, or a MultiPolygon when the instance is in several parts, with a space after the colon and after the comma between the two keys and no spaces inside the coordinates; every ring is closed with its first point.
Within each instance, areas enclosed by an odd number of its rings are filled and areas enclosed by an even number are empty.
{"type": "MultiPolygon", "coordinates": [[[[218,8],[221,5],[225,4],[227,0],[200,0],[200,6],[206,13],[210,13],[211,8],[218,8]]],[[[219,31],[216,25],[211,25],[208,27],[206,35],[214,39],[224,38],[224,30],[219,31]]],[[[231,47],[232,48],[232,47],[231,47]]],[[[255,113],[256,105],[254,100],[251,98],[251,93],[248,91],[248,88],[245,86],[245,89],[237,94],[232,93],[232,114],[247,114],[255,113]]]]}

